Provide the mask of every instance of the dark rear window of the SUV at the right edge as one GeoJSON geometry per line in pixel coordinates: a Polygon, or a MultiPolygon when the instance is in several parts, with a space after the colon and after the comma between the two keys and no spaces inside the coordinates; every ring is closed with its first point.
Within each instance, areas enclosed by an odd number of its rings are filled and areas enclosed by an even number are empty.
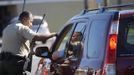
{"type": "Polygon", "coordinates": [[[134,56],[134,18],[120,20],[117,46],[118,56],[134,56]]]}

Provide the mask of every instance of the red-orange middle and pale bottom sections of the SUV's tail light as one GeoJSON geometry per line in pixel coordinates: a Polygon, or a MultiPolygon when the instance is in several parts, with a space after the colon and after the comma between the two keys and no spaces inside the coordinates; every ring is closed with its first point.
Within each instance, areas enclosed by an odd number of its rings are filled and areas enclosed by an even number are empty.
{"type": "Polygon", "coordinates": [[[103,67],[102,75],[115,75],[117,34],[110,34],[106,62],[103,67]]]}

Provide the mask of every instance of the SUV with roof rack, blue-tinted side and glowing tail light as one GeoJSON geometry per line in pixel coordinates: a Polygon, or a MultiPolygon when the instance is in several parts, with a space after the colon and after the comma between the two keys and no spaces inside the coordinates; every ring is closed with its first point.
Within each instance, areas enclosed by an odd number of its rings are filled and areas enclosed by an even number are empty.
{"type": "Polygon", "coordinates": [[[133,75],[134,10],[110,9],[127,6],[134,5],[82,11],[58,32],[51,50],[37,47],[36,56],[51,59],[52,75],[133,75]],[[77,57],[69,59],[67,50],[74,32],[82,33],[83,46],[77,49],[77,57]],[[55,52],[59,52],[57,59],[53,59],[55,52]]]}

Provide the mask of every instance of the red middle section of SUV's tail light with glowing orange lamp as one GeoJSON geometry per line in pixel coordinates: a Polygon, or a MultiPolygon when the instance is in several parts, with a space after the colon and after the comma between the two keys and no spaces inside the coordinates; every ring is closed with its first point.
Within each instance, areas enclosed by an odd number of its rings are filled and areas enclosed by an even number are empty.
{"type": "Polygon", "coordinates": [[[116,48],[117,48],[117,34],[110,34],[109,49],[108,49],[108,54],[107,54],[107,64],[108,63],[115,63],[116,48]]]}

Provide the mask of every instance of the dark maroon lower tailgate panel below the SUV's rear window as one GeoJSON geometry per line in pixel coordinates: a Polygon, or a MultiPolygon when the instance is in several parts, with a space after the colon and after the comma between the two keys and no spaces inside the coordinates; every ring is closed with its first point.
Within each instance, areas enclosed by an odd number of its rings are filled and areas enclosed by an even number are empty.
{"type": "Polygon", "coordinates": [[[117,58],[117,75],[134,74],[134,56],[117,58]]]}

